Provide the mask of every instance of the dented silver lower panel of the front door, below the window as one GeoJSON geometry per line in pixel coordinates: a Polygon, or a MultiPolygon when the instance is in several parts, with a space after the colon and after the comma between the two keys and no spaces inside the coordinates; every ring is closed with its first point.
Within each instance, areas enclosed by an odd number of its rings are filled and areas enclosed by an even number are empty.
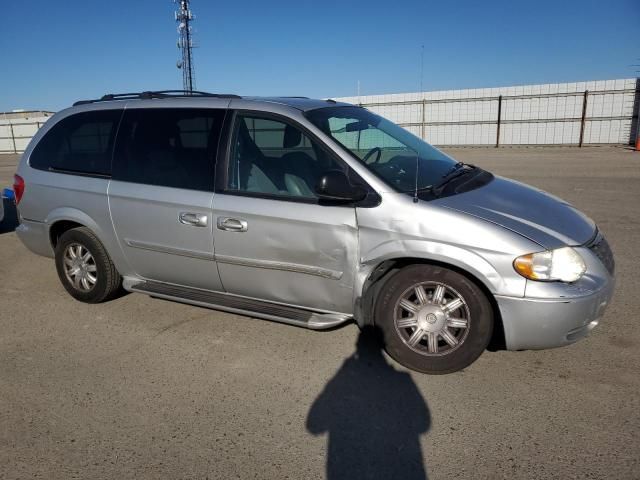
{"type": "Polygon", "coordinates": [[[227,292],[353,312],[353,207],[228,194],[216,194],[213,203],[215,258],[227,292]]]}

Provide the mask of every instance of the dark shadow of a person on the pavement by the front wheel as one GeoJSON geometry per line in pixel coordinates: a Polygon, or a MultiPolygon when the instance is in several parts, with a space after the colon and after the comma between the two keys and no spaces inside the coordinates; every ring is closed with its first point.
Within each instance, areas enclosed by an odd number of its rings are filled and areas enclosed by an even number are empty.
{"type": "Polygon", "coordinates": [[[427,478],[420,436],[431,426],[429,408],[411,376],[387,363],[373,327],[316,398],[306,426],[327,433],[328,480],[427,478]]]}

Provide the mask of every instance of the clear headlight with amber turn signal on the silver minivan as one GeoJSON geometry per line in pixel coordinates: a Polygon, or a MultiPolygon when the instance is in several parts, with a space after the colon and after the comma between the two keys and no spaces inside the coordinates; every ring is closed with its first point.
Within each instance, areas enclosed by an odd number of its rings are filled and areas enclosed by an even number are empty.
{"type": "Polygon", "coordinates": [[[575,282],[587,270],[584,260],[571,247],[522,255],[513,262],[513,268],[530,280],[575,282]]]}

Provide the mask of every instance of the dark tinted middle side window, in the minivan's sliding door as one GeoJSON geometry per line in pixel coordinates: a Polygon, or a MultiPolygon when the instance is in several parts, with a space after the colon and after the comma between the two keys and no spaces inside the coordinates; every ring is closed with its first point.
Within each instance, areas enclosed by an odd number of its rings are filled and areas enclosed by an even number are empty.
{"type": "Polygon", "coordinates": [[[114,180],[212,192],[224,114],[221,109],[127,109],[114,180]]]}

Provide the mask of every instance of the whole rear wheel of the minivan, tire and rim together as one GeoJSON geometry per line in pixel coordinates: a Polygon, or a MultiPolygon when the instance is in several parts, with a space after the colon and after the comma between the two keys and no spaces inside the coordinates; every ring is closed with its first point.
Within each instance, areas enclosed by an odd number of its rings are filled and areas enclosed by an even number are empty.
{"type": "Polygon", "coordinates": [[[107,250],[86,227],[64,232],[58,239],[55,258],[58,277],[76,300],[100,303],[120,289],[122,278],[107,250]]]}

